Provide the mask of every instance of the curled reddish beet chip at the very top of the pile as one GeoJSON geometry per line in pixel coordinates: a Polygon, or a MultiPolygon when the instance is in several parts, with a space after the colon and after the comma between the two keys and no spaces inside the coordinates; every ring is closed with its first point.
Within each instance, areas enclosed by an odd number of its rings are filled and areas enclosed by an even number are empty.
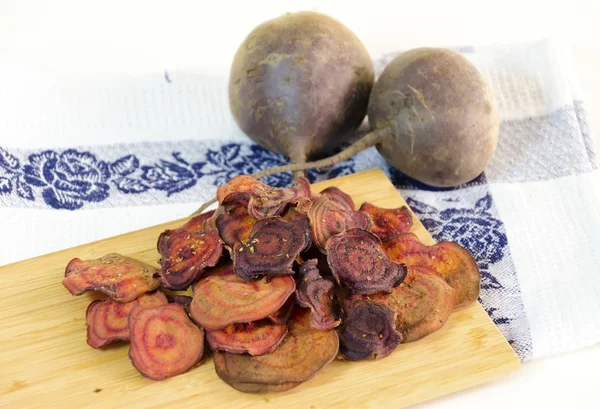
{"type": "Polygon", "coordinates": [[[229,194],[248,196],[248,213],[256,219],[280,215],[289,203],[297,203],[302,197],[310,196],[310,185],[299,178],[293,188],[276,188],[265,185],[251,176],[236,176],[217,189],[217,199],[223,203],[229,194]]]}

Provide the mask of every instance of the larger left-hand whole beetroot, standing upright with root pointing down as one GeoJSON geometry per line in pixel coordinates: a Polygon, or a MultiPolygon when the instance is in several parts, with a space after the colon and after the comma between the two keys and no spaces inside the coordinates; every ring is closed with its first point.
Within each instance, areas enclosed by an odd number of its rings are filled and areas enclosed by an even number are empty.
{"type": "Polygon", "coordinates": [[[350,29],[323,14],[288,13],[256,27],[229,79],[239,127],[292,163],[323,157],[362,122],[373,62],[350,29]]]}

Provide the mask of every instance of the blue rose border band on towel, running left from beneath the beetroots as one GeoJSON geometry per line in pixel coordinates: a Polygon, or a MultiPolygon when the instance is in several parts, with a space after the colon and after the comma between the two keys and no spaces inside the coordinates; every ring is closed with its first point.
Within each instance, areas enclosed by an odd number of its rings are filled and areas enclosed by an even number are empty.
{"type": "MultiPolygon", "coordinates": [[[[250,175],[287,160],[258,145],[228,143],[207,149],[195,161],[182,152],[172,152],[155,163],[142,164],[133,154],[107,161],[88,151],[67,149],[31,153],[26,162],[23,165],[16,155],[0,148],[0,195],[16,194],[27,201],[43,200],[54,209],[77,210],[108,199],[112,189],[128,195],[158,191],[170,197],[192,188],[201,178],[219,186],[234,176],[250,175]]],[[[310,170],[307,177],[314,182],[353,172],[354,161],[349,160],[310,170]]],[[[262,180],[283,187],[292,183],[292,175],[280,173],[262,180]]]]}

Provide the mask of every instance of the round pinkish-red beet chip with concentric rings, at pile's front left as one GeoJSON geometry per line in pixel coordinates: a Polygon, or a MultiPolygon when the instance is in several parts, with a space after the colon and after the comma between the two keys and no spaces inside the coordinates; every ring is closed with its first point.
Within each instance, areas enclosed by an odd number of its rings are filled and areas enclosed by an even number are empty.
{"type": "Polygon", "coordinates": [[[129,315],[131,362],[147,378],[187,372],[204,353],[204,331],[179,304],[135,308],[129,315]]]}

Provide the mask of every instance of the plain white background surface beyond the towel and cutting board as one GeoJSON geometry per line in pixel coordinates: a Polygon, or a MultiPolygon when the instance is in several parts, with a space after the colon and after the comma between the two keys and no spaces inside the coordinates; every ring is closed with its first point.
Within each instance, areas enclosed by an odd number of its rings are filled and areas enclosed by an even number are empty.
{"type": "MultiPolygon", "coordinates": [[[[417,46],[507,44],[546,37],[564,40],[572,46],[600,143],[598,0],[554,4],[549,0],[0,0],[0,65],[90,80],[164,70],[226,76],[237,46],[254,26],[301,9],[339,19],[362,39],[373,57],[417,46]]],[[[0,145],[9,137],[0,135],[0,145]]],[[[78,142],[85,144],[85,139],[78,142]]],[[[422,407],[599,408],[598,368],[600,346],[527,363],[504,380],[422,407]]]]}

